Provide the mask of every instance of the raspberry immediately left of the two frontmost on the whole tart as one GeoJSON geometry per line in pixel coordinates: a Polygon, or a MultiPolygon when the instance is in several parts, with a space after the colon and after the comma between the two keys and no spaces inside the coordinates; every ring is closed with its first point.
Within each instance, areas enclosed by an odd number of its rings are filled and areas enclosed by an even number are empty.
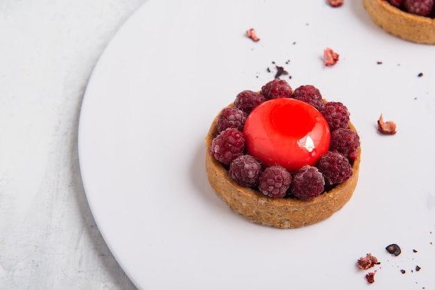
{"type": "Polygon", "coordinates": [[[243,187],[255,187],[261,174],[261,163],[251,155],[240,155],[229,164],[229,176],[243,187]]]}

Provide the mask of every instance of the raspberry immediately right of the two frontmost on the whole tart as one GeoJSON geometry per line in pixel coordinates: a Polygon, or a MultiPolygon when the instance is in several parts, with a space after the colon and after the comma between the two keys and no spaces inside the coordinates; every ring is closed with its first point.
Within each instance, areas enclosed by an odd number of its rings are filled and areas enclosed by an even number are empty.
{"type": "Polygon", "coordinates": [[[325,176],[327,185],[337,185],[352,177],[352,165],[337,151],[328,151],[322,155],[317,168],[325,176]]]}

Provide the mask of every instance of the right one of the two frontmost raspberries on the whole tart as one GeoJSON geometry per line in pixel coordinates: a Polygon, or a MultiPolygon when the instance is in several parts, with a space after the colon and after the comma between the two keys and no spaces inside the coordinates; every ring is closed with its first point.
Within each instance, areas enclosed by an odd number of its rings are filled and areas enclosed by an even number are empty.
{"type": "Polygon", "coordinates": [[[309,201],[320,196],[325,189],[325,179],[317,168],[305,165],[293,173],[290,192],[293,196],[309,201]]]}

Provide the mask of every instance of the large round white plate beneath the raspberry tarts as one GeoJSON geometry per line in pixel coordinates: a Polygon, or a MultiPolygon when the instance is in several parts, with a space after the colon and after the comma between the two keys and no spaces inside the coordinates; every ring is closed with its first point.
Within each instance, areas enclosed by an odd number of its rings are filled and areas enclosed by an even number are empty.
{"type": "Polygon", "coordinates": [[[366,253],[381,262],[373,289],[433,289],[434,53],[384,33],[361,1],[147,1],[101,56],[81,111],[83,182],[110,250],[141,289],[366,289],[366,253]],[[293,88],[345,103],[361,136],[352,200],[306,228],[249,223],[204,171],[215,114],[272,80],[272,62],[293,88]],[[396,135],[377,133],[381,113],[396,135]]]}

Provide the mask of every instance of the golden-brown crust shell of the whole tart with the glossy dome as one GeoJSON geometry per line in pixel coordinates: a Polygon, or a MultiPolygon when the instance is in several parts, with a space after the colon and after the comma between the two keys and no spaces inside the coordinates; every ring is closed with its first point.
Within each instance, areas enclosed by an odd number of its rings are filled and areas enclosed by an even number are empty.
{"type": "MultiPolygon", "coordinates": [[[[211,142],[217,136],[218,116],[215,117],[206,136],[206,171],[211,187],[233,212],[262,225],[301,228],[329,218],[352,197],[358,182],[361,147],[358,149],[358,157],[352,164],[352,178],[311,201],[270,198],[254,189],[241,187],[229,176],[227,169],[210,155],[211,142]]],[[[356,130],[352,123],[350,128],[356,130]]]]}

